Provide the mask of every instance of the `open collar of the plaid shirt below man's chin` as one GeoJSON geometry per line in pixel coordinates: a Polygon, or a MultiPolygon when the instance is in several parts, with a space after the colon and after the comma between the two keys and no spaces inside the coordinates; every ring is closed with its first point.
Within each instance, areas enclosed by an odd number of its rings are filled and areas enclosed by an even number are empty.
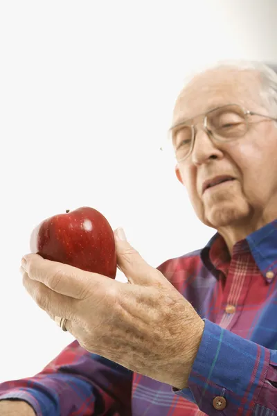
{"type": "MultiPolygon", "coordinates": [[[[232,257],[250,252],[266,281],[277,275],[277,220],[272,221],[233,247],[232,257]]],[[[226,243],[216,233],[200,253],[202,262],[215,277],[220,274],[222,265],[229,264],[231,257],[226,243]]]]}

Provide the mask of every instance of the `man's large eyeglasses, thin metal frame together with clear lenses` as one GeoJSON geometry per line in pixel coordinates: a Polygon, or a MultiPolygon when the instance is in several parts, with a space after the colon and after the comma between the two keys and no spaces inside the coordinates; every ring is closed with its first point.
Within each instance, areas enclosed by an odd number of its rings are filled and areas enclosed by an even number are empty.
{"type": "MultiPolygon", "coordinates": [[[[244,137],[249,130],[249,116],[260,116],[267,121],[277,121],[274,117],[244,110],[238,104],[228,104],[200,114],[204,118],[203,127],[211,140],[228,142],[244,137]]],[[[183,162],[193,151],[195,125],[188,120],[174,125],[169,130],[166,144],[161,150],[175,153],[177,162],[183,162]]],[[[265,121],[265,120],[263,120],[265,121]]],[[[257,122],[257,121],[256,121],[257,122]]]]}

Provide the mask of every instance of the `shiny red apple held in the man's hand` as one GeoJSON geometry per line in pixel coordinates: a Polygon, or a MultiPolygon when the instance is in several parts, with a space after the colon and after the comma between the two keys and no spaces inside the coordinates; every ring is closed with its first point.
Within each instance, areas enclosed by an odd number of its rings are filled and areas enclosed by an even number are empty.
{"type": "Polygon", "coordinates": [[[30,251],[44,259],[116,277],[114,232],[105,216],[90,207],[67,210],[42,221],[30,236],[30,251]]]}

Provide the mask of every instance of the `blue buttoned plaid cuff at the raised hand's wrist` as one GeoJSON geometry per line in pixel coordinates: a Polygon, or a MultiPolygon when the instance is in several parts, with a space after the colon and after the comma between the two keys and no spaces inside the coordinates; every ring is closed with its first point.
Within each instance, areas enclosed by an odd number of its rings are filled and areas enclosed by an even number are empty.
{"type": "Polygon", "coordinates": [[[197,404],[208,415],[220,414],[213,404],[215,397],[224,398],[224,415],[253,410],[269,368],[269,349],[209,320],[204,319],[204,323],[188,388],[172,388],[172,392],[197,404]]]}

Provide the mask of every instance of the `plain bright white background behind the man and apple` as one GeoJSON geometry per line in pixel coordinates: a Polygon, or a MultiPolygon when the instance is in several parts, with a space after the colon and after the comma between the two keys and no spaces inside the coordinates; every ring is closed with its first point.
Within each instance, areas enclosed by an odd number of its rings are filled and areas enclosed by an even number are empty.
{"type": "Polygon", "coordinates": [[[159,147],[199,64],[277,61],[276,17],[275,0],[1,1],[0,381],[73,340],[21,283],[41,220],[90,205],[152,266],[210,239],[159,147]]]}

